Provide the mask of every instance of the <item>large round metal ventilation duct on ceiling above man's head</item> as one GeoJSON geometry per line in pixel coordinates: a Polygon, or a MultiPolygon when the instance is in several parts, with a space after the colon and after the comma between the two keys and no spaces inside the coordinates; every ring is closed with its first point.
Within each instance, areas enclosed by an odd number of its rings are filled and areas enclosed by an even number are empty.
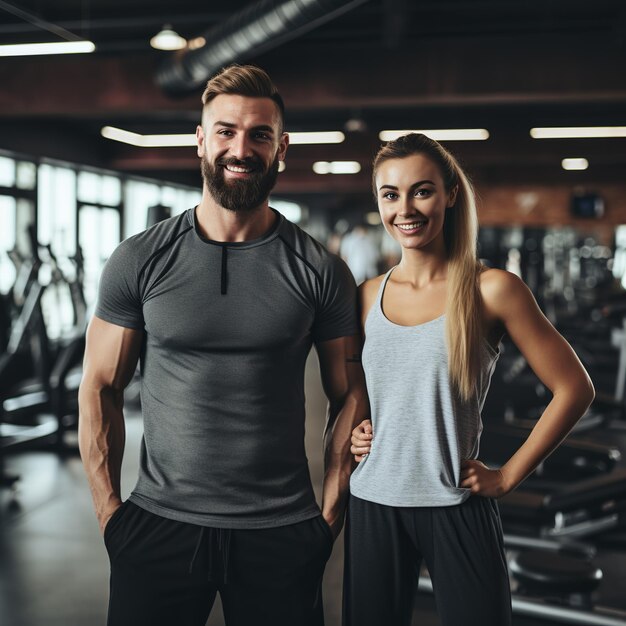
{"type": "Polygon", "coordinates": [[[365,2],[260,0],[204,33],[202,48],[172,55],[159,69],[157,82],[170,94],[191,91],[225,65],[276,48],[365,2]]]}

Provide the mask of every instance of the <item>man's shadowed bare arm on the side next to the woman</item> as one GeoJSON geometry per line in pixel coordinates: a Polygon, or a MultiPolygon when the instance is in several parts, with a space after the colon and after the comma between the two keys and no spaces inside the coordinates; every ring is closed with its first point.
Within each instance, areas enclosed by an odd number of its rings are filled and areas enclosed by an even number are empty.
{"type": "Polygon", "coordinates": [[[322,514],[335,536],[343,525],[350,473],[350,435],[357,422],[369,415],[358,335],[316,345],[328,414],[324,430],[324,487],[322,514]]]}

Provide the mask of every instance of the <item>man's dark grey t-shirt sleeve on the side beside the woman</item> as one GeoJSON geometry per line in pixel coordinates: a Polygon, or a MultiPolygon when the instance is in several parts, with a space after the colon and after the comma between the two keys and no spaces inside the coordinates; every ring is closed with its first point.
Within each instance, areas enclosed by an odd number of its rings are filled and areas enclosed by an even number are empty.
{"type": "Polygon", "coordinates": [[[313,341],[328,341],[359,333],[356,283],[348,266],[330,254],[320,272],[320,302],[313,324],[313,341]]]}

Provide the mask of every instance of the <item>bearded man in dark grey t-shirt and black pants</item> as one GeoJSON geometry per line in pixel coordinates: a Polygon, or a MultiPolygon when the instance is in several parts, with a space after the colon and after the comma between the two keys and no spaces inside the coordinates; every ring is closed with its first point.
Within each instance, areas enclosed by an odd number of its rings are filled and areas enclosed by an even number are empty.
{"type": "Polygon", "coordinates": [[[111,561],[109,625],[323,624],[350,433],[364,414],[355,285],[268,205],[285,158],[265,72],[207,84],[202,201],[124,241],[87,333],[80,449],[111,561]],[[304,365],[329,399],[322,513],[304,451],[304,365]],[[139,480],[120,499],[123,390],[141,355],[139,480]]]}

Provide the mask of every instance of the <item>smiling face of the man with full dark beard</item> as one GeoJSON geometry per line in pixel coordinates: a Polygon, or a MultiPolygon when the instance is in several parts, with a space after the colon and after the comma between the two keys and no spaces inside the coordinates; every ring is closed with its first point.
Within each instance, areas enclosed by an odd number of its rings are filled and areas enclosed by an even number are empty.
{"type": "Polygon", "coordinates": [[[241,212],[267,200],[289,143],[272,100],[221,94],[205,107],[196,136],[202,178],[217,204],[241,212]]]}

